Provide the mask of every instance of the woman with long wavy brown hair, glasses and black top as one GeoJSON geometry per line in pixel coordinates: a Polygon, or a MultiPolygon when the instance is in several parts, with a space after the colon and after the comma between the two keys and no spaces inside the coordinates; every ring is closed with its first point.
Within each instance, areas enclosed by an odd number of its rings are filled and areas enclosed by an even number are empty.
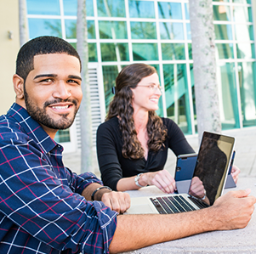
{"type": "MultiPolygon", "coordinates": [[[[125,191],[156,185],[174,193],[174,178],[164,169],[168,148],[175,155],[194,153],[174,121],[156,116],[161,87],[151,65],[128,65],[118,74],[106,121],[97,131],[97,154],[103,183],[125,191]]],[[[199,178],[191,193],[204,197],[199,178]]]]}

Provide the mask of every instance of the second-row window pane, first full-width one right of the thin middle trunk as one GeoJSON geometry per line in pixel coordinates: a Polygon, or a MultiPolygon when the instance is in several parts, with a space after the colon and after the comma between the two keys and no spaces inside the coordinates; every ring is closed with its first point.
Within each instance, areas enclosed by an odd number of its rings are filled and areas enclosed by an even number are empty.
{"type": "Polygon", "coordinates": [[[100,39],[127,39],[124,21],[99,21],[100,39]]]}

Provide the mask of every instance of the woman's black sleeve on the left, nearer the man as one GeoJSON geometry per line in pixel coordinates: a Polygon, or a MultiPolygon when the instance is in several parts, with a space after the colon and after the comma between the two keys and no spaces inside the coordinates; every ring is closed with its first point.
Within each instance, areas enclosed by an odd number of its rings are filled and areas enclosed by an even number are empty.
{"type": "MultiPolygon", "coordinates": [[[[117,133],[107,122],[97,130],[97,155],[103,183],[117,190],[117,182],[122,178],[122,168],[117,155],[117,133]]],[[[120,148],[121,149],[121,148],[120,148]]]]}

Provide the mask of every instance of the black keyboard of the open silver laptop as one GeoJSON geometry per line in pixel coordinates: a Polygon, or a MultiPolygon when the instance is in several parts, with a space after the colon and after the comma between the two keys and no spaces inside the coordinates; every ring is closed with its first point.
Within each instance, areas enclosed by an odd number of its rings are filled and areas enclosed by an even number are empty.
{"type": "MultiPolygon", "coordinates": [[[[191,198],[191,199],[192,199],[193,202],[194,202],[194,200],[196,200],[194,198],[191,198]]],[[[190,212],[190,211],[195,211],[196,210],[181,195],[156,197],[156,198],[151,198],[150,200],[153,203],[153,205],[156,206],[156,209],[160,214],[190,212]]],[[[202,202],[202,203],[204,203],[204,202],[202,202]]],[[[200,205],[202,206],[202,204],[200,204],[200,205]]],[[[201,207],[201,206],[199,206],[199,207],[204,208],[204,207],[201,207]]],[[[207,207],[207,206],[205,206],[205,207],[207,207]]]]}

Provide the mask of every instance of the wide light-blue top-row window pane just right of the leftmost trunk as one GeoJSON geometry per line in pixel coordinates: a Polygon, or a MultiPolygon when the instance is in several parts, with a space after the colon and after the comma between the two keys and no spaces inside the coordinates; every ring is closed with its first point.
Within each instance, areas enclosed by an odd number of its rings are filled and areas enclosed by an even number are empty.
{"type": "Polygon", "coordinates": [[[26,0],[27,14],[60,15],[59,0],[26,0]]]}

